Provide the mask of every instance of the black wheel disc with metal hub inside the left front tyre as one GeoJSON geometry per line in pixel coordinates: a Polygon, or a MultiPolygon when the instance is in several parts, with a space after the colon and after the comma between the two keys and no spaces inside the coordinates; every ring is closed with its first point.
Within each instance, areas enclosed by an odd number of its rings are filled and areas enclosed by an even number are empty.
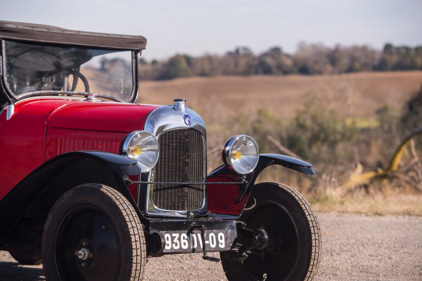
{"type": "Polygon", "coordinates": [[[56,236],[55,262],[65,280],[116,280],[121,250],[115,226],[103,211],[78,207],[56,236]]]}

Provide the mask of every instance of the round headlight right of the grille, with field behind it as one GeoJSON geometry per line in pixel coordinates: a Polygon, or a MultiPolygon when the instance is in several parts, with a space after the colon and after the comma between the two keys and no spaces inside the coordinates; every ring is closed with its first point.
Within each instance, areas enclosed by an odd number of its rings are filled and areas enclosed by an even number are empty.
{"type": "Polygon", "coordinates": [[[224,145],[223,161],[239,174],[253,171],[258,164],[258,158],[258,145],[249,136],[234,136],[224,145]]]}

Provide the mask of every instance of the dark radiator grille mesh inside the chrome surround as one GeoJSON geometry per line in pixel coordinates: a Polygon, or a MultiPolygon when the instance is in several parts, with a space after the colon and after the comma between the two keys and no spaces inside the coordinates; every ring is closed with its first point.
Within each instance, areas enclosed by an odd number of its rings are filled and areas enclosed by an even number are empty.
{"type": "MultiPolygon", "coordinates": [[[[160,156],[154,168],[157,182],[203,182],[202,136],[192,129],[164,132],[158,138],[160,156]]],[[[157,208],[193,211],[202,207],[203,185],[154,184],[152,202],[157,208]]]]}

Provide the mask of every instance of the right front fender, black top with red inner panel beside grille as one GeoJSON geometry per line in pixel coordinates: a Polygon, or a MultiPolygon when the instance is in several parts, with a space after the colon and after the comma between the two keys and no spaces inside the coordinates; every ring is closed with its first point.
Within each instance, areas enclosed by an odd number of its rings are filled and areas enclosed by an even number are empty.
{"type": "Polygon", "coordinates": [[[249,174],[239,175],[225,165],[207,175],[208,182],[239,182],[246,184],[208,184],[208,210],[212,213],[239,217],[246,205],[253,185],[263,169],[271,165],[281,165],[304,174],[313,175],[312,165],[302,160],[279,154],[260,154],[256,168],[249,174]]]}

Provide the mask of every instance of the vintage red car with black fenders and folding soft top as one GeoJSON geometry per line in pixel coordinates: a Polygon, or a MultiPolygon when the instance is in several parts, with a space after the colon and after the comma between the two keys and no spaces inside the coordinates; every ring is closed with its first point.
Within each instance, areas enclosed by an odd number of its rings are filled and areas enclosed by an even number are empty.
{"type": "Polygon", "coordinates": [[[141,280],[147,257],[213,251],[229,280],[314,278],[309,203],[255,184],[270,165],[311,165],[238,135],[206,174],[186,101],[136,104],[144,37],[0,22],[0,43],[0,250],[47,280],[141,280]]]}

